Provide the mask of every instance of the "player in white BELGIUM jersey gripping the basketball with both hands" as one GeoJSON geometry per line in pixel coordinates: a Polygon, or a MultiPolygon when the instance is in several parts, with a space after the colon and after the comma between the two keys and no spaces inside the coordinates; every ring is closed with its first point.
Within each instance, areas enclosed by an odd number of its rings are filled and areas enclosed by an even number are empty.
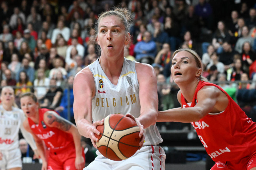
{"type": "Polygon", "coordinates": [[[96,151],[98,156],[84,170],[165,169],[165,152],[158,145],[162,138],[155,125],[158,97],[154,69],[123,56],[130,42],[129,22],[129,12],[123,8],[99,16],[96,38],[101,56],[75,76],[74,117],[79,133],[97,148],[94,133],[100,133],[96,127],[103,124],[102,119],[112,113],[126,114],[140,128],[140,150],[122,161],[112,161],[96,151]]]}

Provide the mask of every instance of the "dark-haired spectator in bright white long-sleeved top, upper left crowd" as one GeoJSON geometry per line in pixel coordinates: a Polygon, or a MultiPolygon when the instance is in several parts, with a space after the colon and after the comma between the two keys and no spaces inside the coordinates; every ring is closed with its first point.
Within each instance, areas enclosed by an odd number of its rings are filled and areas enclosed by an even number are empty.
{"type": "Polygon", "coordinates": [[[65,39],[65,41],[69,40],[69,36],[70,36],[70,29],[65,27],[64,22],[62,20],[58,21],[58,25],[57,28],[55,28],[53,30],[53,35],[51,38],[51,43],[55,44],[56,41],[56,37],[58,34],[61,34],[63,36],[63,38],[65,39]]]}

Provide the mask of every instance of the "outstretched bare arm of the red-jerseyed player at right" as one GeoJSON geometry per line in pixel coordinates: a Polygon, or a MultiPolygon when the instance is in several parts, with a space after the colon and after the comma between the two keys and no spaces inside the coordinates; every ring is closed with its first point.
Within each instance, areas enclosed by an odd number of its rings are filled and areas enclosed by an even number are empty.
{"type": "MultiPolygon", "coordinates": [[[[180,101],[180,92],[178,93],[180,101]]],[[[195,122],[210,112],[221,112],[227,107],[227,96],[217,87],[205,86],[197,93],[198,103],[195,107],[174,108],[167,111],[159,111],[157,121],[195,122]]]]}

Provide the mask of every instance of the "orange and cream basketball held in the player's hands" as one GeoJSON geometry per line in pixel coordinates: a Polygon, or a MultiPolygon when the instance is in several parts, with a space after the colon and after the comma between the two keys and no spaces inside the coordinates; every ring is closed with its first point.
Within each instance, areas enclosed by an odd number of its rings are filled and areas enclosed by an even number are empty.
{"type": "Polygon", "coordinates": [[[98,125],[100,135],[96,142],[99,152],[111,160],[124,160],[133,156],[139,148],[139,127],[130,117],[123,114],[111,114],[104,119],[104,125],[98,125]]]}

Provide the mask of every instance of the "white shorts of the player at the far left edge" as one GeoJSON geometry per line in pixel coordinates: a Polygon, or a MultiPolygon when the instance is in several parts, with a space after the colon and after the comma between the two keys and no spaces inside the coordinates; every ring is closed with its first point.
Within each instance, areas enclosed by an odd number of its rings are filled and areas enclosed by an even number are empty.
{"type": "Polygon", "coordinates": [[[2,150],[1,152],[3,154],[3,158],[0,160],[1,170],[22,167],[21,150],[19,148],[7,151],[2,150]]]}

